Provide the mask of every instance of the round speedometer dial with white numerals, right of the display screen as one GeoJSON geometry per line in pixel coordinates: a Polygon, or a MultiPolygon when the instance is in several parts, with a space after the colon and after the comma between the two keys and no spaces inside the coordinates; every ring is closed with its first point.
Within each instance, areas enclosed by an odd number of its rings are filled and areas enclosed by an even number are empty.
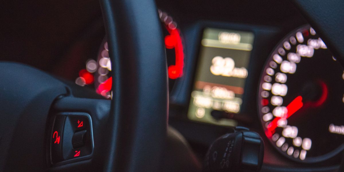
{"type": "Polygon", "coordinates": [[[258,111],[278,151],[312,163],[343,150],[343,78],[342,65],[309,25],[276,46],[261,74],[258,111]]]}

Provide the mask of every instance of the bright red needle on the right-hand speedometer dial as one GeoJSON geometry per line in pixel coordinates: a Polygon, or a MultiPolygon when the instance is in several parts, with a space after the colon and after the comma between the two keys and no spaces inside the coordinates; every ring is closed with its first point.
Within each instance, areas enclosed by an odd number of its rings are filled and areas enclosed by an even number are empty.
{"type": "MultiPolygon", "coordinates": [[[[287,106],[287,114],[283,117],[284,119],[288,119],[290,116],[292,116],[296,111],[298,111],[303,106],[302,103],[302,96],[296,97],[291,103],[287,106]]],[[[277,128],[277,122],[281,119],[281,117],[276,117],[273,119],[269,125],[268,130],[271,132],[277,128]]]]}

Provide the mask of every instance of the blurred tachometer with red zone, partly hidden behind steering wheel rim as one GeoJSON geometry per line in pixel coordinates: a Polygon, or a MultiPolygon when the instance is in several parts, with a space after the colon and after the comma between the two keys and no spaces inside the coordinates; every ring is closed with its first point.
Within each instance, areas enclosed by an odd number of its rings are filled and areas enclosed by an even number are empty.
{"type": "MultiPolygon", "coordinates": [[[[168,63],[169,89],[173,88],[175,79],[183,75],[184,47],[177,23],[166,12],[158,10],[163,26],[164,42],[168,63]]],[[[96,92],[105,98],[111,97],[110,75],[111,62],[106,39],[102,42],[97,60],[90,59],[86,62],[86,69],[81,69],[75,83],[81,86],[94,83],[96,92]]]]}

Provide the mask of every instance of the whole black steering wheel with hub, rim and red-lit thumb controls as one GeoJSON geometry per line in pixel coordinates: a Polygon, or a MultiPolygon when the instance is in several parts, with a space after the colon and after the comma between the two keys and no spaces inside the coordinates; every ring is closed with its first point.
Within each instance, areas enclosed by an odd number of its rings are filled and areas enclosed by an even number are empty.
{"type": "MultiPolygon", "coordinates": [[[[344,28],[340,9],[344,2],[313,2],[295,0],[343,62],[344,34],[336,28],[344,28]]],[[[157,8],[153,0],[100,3],[114,76],[112,100],[76,97],[72,86],[49,74],[31,66],[1,62],[0,171],[161,170],[168,81],[157,8]],[[66,122],[73,126],[73,119],[78,118],[85,126],[88,123],[81,134],[65,127],[69,125],[66,122]],[[58,119],[63,119],[62,126],[58,126],[58,119]],[[60,132],[55,134],[55,129],[60,132]],[[65,136],[75,136],[76,140],[86,137],[88,152],[83,154],[73,144],[67,151],[72,158],[63,157],[58,151],[66,148],[58,146],[65,136]]],[[[74,129],[83,127],[77,121],[74,129]]]]}

